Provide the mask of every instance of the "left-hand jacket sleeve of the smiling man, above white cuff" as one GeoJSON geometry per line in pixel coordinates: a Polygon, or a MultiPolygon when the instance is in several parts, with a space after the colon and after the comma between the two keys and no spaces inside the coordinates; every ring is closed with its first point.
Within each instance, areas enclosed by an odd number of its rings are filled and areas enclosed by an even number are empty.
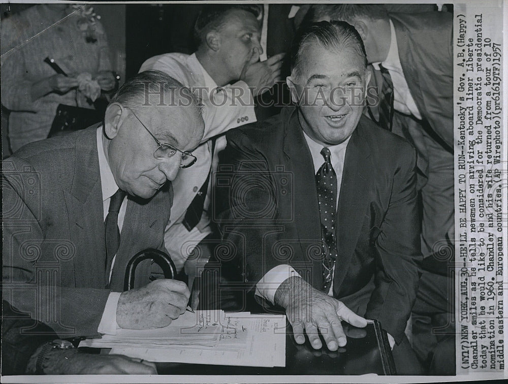
{"type": "Polygon", "coordinates": [[[242,282],[251,289],[267,271],[281,264],[263,245],[270,233],[277,231],[277,208],[267,210],[275,207],[276,188],[268,160],[248,137],[233,130],[227,138],[215,178],[213,215],[223,241],[232,244],[235,254],[223,264],[232,260],[242,282]]]}

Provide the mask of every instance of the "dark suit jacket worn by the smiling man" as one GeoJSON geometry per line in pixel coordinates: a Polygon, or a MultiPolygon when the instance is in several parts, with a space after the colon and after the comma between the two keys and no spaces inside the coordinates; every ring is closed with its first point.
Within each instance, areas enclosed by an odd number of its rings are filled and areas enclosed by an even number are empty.
{"type": "MultiPolygon", "coordinates": [[[[292,107],[227,134],[214,216],[249,288],[290,264],[322,287],[321,221],[310,151],[292,107]]],[[[419,279],[415,150],[363,116],[347,146],[337,208],[334,297],[398,342],[419,279]]],[[[231,258],[231,255],[227,258],[231,258]]]]}

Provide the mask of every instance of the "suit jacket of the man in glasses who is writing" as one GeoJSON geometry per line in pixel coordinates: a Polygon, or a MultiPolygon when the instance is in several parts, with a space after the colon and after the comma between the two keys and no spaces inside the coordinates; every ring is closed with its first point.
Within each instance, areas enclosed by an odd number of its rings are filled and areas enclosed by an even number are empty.
{"type": "MultiPolygon", "coordinates": [[[[111,291],[123,291],[138,251],[163,249],[172,189],[129,197],[121,243],[105,289],[104,213],[97,126],[31,143],[3,162],[4,299],[62,337],[97,333],[111,291]]],[[[136,286],[148,282],[149,261],[136,286]]]]}

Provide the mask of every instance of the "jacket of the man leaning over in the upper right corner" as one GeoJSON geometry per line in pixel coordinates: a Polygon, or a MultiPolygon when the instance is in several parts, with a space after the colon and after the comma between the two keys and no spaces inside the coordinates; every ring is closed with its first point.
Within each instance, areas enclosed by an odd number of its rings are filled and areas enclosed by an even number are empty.
{"type": "Polygon", "coordinates": [[[434,133],[453,151],[453,20],[449,12],[392,13],[411,96],[434,133]]]}

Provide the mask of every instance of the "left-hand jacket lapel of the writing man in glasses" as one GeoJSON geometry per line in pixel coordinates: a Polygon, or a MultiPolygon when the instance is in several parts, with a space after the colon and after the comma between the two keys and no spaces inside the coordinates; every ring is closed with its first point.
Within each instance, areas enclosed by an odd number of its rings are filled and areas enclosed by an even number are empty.
{"type": "Polygon", "coordinates": [[[104,211],[96,130],[89,129],[79,139],[73,184],[70,191],[63,191],[70,236],[76,246],[76,257],[73,259],[75,283],[76,286],[102,288],[105,264],[104,211]]]}

